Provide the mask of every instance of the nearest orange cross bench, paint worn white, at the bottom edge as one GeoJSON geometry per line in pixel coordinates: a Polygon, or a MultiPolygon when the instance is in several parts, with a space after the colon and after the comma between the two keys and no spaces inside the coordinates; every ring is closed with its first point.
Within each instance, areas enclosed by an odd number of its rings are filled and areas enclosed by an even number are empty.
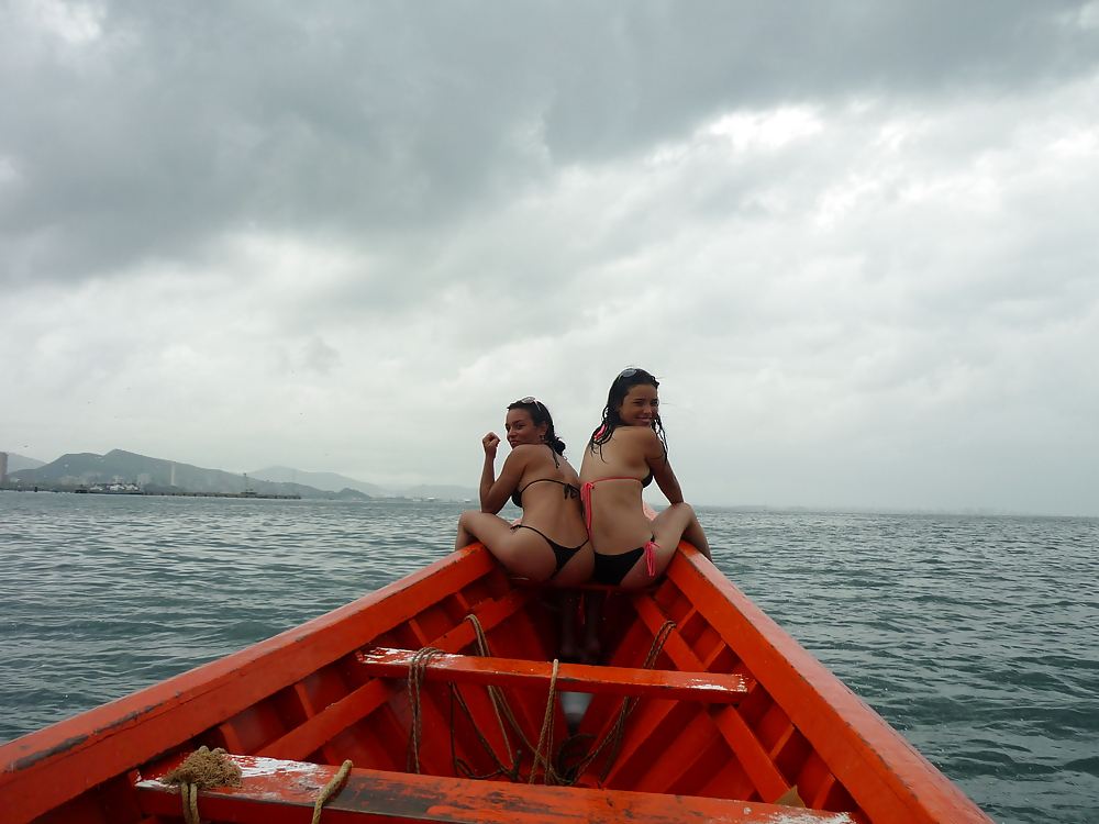
{"type": "MultiPolygon", "coordinates": [[[[313,802],[336,767],[233,756],[244,772],[240,789],[199,793],[203,819],[240,824],[301,824],[309,821],[313,802]]],[[[137,784],[146,815],[181,813],[181,797],[147,777],[137,784]]],[[[689,795],[615,790],[467,781],[437,776],[409,776],[353,769],[324,805],[325,824],[373,822],[445,822],[446,824],[646,824],[724,822],[726,824],[851,824],[843,813],[791,810],[773,804],[746,803],[689,795]],[[796,816],[796,819],[795,819],[796,816]]]]}

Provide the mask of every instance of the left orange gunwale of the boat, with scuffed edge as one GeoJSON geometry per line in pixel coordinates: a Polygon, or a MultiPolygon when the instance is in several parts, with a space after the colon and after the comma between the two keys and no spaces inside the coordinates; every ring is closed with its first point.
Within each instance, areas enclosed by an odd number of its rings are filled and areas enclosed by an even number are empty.
{"type": "Polygon", "coordinates": [[[431,592],[453,592],[495,569],[476,544],[269,641],[3,745],[8,823],[25,824],[187,742],[409,620],[431,592]]]}

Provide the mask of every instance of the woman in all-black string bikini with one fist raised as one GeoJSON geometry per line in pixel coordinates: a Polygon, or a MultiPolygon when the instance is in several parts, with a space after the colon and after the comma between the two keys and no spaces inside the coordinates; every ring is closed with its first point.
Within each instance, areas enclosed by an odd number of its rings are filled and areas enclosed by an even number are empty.
{"type": "Polygon", "coordinates": [[[500,438],[492,432],[481,444],[485,468],[480,511],[458,520],[455,548],[480,541],[508,569],[534,581],[576,587],[591,577],[595,558],[580,516],[576,470],[565,460],[565,444],[554,433],[545,404],[524,398],[508,407],[511,454],[496,477],[500,438]],[[496,513],[508,498],[523,509],[523,523],[512,526],[496,513]]]}

